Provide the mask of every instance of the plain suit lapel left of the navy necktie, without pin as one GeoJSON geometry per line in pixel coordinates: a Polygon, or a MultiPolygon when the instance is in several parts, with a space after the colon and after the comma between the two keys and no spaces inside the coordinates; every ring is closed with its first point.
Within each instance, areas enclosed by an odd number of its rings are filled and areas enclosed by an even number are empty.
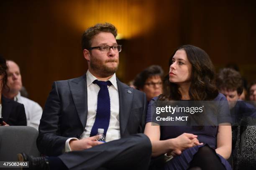
{"type": "Polygon", "coordinates": [[[85,127],[88,113],[86,75],[77,79],[69,80],[69,88],[73,97],[74,105],[77,109],[79,119],[83,127],[85,127]]]}

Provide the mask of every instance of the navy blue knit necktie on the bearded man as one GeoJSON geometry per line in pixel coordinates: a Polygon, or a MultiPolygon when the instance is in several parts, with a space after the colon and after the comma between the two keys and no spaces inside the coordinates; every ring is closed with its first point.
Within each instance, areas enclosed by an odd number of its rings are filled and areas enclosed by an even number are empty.
{"type": "Polygon", "coordinates": [[[104,135],[106,136],[109,120],[110,120],[110,97],[108,92],[108,86],[111,85],[110,81],[93,81],[93,84],[100,86],[100,91],[97,98],[97,112],[95,122],[92,126],[91,136],[95,136],[98,133],[98,129],[104,129],[104,135]]]}

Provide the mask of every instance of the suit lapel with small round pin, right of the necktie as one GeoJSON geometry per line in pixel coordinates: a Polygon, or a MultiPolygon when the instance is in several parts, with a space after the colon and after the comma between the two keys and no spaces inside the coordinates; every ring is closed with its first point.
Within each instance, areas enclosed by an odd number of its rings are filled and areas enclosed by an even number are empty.
{"type": "Polygon", "coordinates": [[[119,94],[119,121],[120,121],[120,135],[123,137],[128,119],[131,114],[131,107],[133,102],[133,88],[121,83],[117,79],[118,94],[119,94]]]}

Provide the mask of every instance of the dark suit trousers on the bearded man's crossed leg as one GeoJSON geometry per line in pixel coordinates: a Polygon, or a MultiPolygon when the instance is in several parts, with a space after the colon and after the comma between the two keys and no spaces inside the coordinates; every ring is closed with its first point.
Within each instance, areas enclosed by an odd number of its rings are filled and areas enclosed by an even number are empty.
{"type": "Polygon", "coordinates": [[[147,170],[151,150],[145,134],[134,134],[87,150],[67,152],[59,158],[71,170],[147,170]]]}

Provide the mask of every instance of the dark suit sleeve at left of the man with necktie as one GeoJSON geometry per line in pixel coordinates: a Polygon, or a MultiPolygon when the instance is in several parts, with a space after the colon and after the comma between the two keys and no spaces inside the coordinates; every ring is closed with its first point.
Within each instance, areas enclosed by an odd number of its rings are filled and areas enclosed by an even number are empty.
{"type": "Polygon", "coordinates": [[[60,132],[61,99],[57,83],[52,85],[40,120],[39,135],[36,141],[38,150],[47,156],[58,156],[63,153],[68,137],[60,132]]]}

